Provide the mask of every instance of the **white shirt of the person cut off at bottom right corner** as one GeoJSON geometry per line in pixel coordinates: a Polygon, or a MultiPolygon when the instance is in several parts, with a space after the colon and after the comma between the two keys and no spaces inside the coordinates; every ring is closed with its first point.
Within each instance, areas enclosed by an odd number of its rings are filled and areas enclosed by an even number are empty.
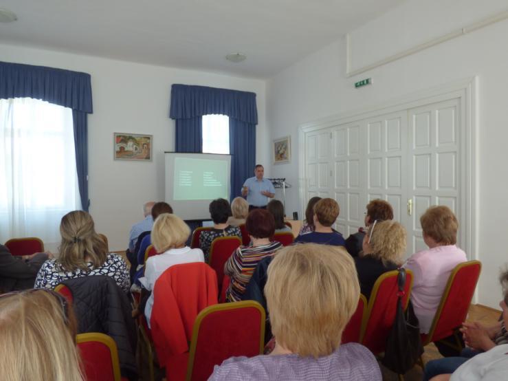
{"type": "Polygon", "coordinates": [[[498,345],[464,362],[450,381],[508,380],[508,344],[498,345]]]}

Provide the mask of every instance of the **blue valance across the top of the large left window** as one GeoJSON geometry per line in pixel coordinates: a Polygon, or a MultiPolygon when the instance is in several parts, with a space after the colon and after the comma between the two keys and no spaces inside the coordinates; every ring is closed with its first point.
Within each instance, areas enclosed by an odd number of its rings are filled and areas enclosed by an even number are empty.
{"type": "Polygon", "coordinates": [[[93,112],[90,74],[53,67],[0,62],[0,98],[41,99],[93,112]]]}

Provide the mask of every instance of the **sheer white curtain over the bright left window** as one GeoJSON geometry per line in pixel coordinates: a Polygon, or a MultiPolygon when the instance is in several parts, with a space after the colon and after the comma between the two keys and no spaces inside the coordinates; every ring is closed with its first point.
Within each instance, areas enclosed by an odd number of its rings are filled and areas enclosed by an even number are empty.
{"type": "Polygon", "coordinates": [[[54,250],[60,219],[80,208],[72,111],[0,100],[0,242],[39,237],[54,250]]]}

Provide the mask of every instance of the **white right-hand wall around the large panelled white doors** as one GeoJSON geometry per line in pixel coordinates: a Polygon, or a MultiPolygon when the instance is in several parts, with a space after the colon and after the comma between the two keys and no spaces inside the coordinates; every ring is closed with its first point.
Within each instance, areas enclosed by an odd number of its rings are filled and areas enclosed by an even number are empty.
{"type": "MultiPolygon", "coordinates": [[[[482,16],[496,12],[499,3],[482,2],[482,16]]],[[[430,17],[424,17],[425,14],[439,14],[439,19],[450,20],[455,20],[459,14],[468,23],[474,21],[476,9],[463,8],[462,4],[461,0],[409,1],[403,9],[388,12],[353,32],[352,40],[362,46],[363,52],[371,48],[377,52],[370,58],[362,53],[362,65],[384,58],[379,51],[386,51],[388,56],[408,47],[399,39],[387,39],[382,32],[379,36],[377,31],[384,25],[394,28],[395,34],[404,36],[404,41],[417,36],[415,42],[421,42],[435,36],[432,28],[423,29],[427,38],[421,35],[421,17],[432,23],[430,17]],[[426,9],[424,13],[423,8],[426,9]],[[400,19],[401,14],[404,19],[400,19]],[[413,19],[415,23],[410,22],[413,19]]],[[[341,40],[270,79],[267,83],[267,121],[272,138],[290,134],[293,142],[291,164],[274,166],[272,171],[273,175],[285,176],[296,184],[287,192],[287,211],[299,210],[301,213],[298,200],[300,124],[478,76],[478,252],[471,254],[483,263],[478,303],[496,307],[501,296],[498,272],[508,262],[508,176],[504,165],[508,162],[508,50],[503,48],[507,35],[508,21],[502,21],[353,78],[346,78],[344,74],[346,47],[341,40]],[[355,81],[367,77],[373,78],[373,85],[354,88],[355,81]]],[[[360,61],[357,59],[356,62],[360,61]]]]}

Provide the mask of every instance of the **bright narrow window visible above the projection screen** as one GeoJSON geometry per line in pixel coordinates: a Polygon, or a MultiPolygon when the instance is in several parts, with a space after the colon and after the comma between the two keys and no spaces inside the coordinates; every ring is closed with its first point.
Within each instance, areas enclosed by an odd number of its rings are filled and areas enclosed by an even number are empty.
{"type": "Polygon", "coordinates": [[[230,153],[230,118],[225,115],[204,115],[203,153],[230,153]]]}

